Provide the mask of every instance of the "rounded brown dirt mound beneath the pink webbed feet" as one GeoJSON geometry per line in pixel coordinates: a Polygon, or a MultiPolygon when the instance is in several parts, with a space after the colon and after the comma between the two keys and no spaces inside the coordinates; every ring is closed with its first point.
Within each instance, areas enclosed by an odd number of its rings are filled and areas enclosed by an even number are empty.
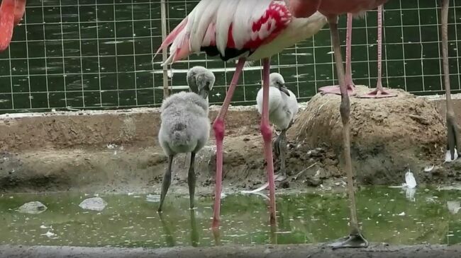
{"type": "MultiPolygon", "coordinates": [[[[357,86],[359,93],[367,90],[357,86]]],[[[362,183],[400,183],[402,171],[422,171],[445,151],[443,115],[433,102],[396,91],[396,98],[350,98],[352,166],[362,183]]],[[[311,147],[325,144],[342,155],[339,105],[339,95],[314,96],[289,137],[311,147]]]]}

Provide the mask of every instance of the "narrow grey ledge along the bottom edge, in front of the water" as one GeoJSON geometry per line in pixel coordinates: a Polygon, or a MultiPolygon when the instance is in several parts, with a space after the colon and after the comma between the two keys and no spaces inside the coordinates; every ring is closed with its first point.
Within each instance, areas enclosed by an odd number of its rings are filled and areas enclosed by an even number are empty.
{"type": "Polygon", "coordinates": [[[21,247],[0,246],[0,257],[157,257],[157,258],[330,258],[330,257],[354,257],[354,258],[381,258],[381,257],[406,257],[406,258],[451,258],[459,257],[460,246],[444,245],[412,245],[412,246],[389,246],[376,244],[367,249],[343,249],[331,250],[328,247],[313,245],[262,245],[262,246],[220,246],[210,248],[172,247],[158,250],[111,247],[21,247]]]}

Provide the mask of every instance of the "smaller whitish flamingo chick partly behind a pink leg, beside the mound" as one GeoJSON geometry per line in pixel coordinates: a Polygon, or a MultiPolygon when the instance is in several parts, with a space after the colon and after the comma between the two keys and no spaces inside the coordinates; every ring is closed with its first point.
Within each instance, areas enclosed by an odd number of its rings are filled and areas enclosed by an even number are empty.
{"type": "MultiPolygon", "coordinates": [[[[294,122],[294,115],[299,110],[298,100],[291,90],[285,86],[281,74],[272,73],[269,76],[269,121],[280,130],[279,136],[274,141],[274,150],[280,158],[280,180],[287,178],[285,154],[287,153],[287,130],[294,122]]],[[[256,96],[257,111],[262,113],[262,89],[256,96]]]]}

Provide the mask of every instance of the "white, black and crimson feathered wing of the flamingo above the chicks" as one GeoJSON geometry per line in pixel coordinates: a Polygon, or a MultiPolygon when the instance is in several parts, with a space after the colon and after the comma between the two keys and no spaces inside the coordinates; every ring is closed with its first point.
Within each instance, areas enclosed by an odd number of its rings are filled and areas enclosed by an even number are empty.
{"type": "Polygon", "coordinates": [[[201,0],[157,53],[171,45],[170,57],[162,65],[200,51],[224,61],[248,57],[290,22],[291,13],[280,0],[201,0]]]}

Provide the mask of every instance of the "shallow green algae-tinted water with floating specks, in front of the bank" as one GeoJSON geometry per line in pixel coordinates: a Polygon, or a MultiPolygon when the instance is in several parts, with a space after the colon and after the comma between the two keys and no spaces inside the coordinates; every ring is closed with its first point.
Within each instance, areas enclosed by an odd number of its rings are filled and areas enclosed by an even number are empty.
{"type": "MultiPolygon", "coordinates": [[[[219,237],[213,235],[213,199],[168,195],[162,217],[145,194],[101,195],[107,206],[89,211],[79,204],[87,194],[4,194],[0,197],[1,245],[85,247],[172,247],[321,243],[348,233],[346,195],[277,196],[277,228],[268,225],[267,201],[258,195],[229,195],[221,207],[219,237]],[[19,213],[28,201],[48,207],[19,213]]],[[[455,190],[363,188],[357,192],[359,220],[370,242],[456,244],[461,242],[461,192],[455,190]]]]}

